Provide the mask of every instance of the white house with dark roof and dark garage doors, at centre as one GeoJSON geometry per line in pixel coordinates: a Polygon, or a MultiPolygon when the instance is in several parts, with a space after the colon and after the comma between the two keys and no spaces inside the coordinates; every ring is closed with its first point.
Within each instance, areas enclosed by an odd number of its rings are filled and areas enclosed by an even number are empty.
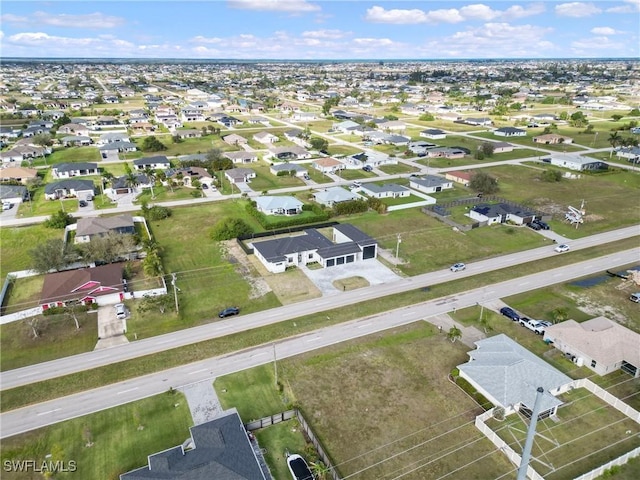
{"type": "Polygon", "coordinates": [[[333,239],[309,228],[304,234],[254,242],[256,258],[272,273],[317,262],[328,268],[376,258],[378,242],[350,224],[333,227],[333,239]]]}

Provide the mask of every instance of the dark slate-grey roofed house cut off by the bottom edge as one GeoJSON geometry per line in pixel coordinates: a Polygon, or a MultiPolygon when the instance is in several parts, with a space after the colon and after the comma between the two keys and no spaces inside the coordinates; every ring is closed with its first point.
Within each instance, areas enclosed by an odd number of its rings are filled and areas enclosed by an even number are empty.
{"type": "Polygon", "coordinates": [[[267,479],[255,453],[258,448],[235,408],[189,431],[187,442],[149,455],[148,465],[123,473],[120,480],[267,479]]]}

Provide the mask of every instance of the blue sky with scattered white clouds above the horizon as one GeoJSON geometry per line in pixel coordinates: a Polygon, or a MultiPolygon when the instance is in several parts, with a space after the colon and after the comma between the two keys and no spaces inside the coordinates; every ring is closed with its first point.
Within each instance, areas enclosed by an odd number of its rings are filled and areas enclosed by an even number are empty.
{"type": "Polygon", "coordinates": [[[7,1],[0,56],[638,58],[640,0],[7,1]]]}

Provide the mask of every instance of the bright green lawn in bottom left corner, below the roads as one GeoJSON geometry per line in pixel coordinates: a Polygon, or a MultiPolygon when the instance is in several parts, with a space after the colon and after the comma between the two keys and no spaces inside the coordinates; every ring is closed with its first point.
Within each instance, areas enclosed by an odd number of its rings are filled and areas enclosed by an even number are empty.
{"type": "MultiPolygon", "coordinates": [[[[11,460],[35,460],[40,464],[48,458],[64,461],[68,466],[74,461],[75,471],[55,478],[117,480],[120,474],[147,465],[148,455],[182,444],[192,425],[184,396],[163,393],[4,438],[1,458],[3,465],[11,460]],[[88,440],[93,443],[90,447],[88,440]],[[49,454],[52,456],[47,457],[49,454]]],[[[2,478],[36,477],[4,470],[2,478]]]]}

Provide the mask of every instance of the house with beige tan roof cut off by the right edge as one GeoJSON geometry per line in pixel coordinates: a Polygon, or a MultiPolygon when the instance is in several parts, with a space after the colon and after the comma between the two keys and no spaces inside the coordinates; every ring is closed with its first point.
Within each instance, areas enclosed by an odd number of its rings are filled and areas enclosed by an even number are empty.
{"type": "Polygon", "coordinates": [[[544,340],[598,375],[622,369],[640,377],[640,334],[606,317],[557,323],[545,329],[544,340]]]}

